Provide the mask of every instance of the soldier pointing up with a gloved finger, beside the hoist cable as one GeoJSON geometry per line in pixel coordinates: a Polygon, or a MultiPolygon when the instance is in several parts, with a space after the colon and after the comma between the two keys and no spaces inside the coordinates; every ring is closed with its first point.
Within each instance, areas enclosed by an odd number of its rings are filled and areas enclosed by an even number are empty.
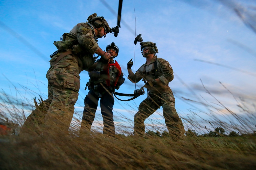
{"type": "Polygon", "coordinates": [[[138,112],[134,115],[134,135],[143,135],[145,132],[144,121],[161,106],[163,116],[170,136],[180,138],[185,130],[182,120],[175,109],[175,98],[168,83],[173,80],[173,69],[169,62],[157,58],[158,53],[155,43],[142,42],[141,51],[146,63],[143,64],[134,74],[131,70],[132,59],[127,63],[128,79],[137,83],[141,79],[145,82],[148,90],[148,97],[141,102],[138,112]]]}

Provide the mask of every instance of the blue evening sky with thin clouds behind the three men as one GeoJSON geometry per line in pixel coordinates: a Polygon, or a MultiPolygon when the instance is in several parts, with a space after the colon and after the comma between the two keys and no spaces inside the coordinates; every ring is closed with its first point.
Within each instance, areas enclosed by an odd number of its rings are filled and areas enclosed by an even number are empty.
{"type": "MultiPolygon", "coordinates": [[[[19,101],[32,103],[33,98],[39,95],[45,99],[49,55],[56,51],[53,42],[58,41],[64,32],[69,32],[77,23],[86,22],[94,12],[104,16],[110,27],[116,26],[117,15],[102,2],[107,2],[118,12],[117,0],[1,1],[1,91],[19,101]]],[[[237,105],[255,113],[255,8],[256,2],[253,0],[228,3],[211,0],[124,0],[118,37],[107,34],[106,38],[99,39],[98,44],[105,49],[108,44],[115,42],[120,49],[116,60],[126,78],[127,62],[131,58],[135,61],[133,70],[145,62],[140,46],[133,44],[135,36],[141,33],[144,41],[155,42],[159,50],[157,56],[169,61],[174,70],[174,80],[169,86],[176,98],[177,112],[184,118],[195,112],[199,115],[196,116],[197,121],[208,126],[206,121],[202,121],[211,119],[205,113],[216,114],[218,119],[223,119],[222,113],[229,114],[221,104],[237,114],[245,113],[237,105]],[[234,9],[238,9],[241,17],[234,9]],[[221,104],[206,93],[201,81],[221,104]],[[204,107],[184,98],[208,103],[213,107],[204,107]]],[[[75,105],[78,114],[74,116],[78,122],[82,117],[83,99],[88,93],[84,87],[89,79],[85,71],[80,76],[79,99],[75,105]]],[[[141,86],[143,82],[136,84],[136,88],[141,86]]],[[[134,89],[135,85],[126,79],[118,92],[132,93],[134,89]]],[[[115,100],[116,127],[122,128],[119,124],[128,124],[127,131],[131,130],[133,115],[145,97],[146,94],[129,102],[115,100]]],[[[30,112],[27,109],[26,116],[30,112]]],[[[97,117],[95,127],[102,121],[99,111],[97,117]]],[[[148,125],[159,125],[165,129],[161,109],[150,118],[146,122],[148,125]]]]}

